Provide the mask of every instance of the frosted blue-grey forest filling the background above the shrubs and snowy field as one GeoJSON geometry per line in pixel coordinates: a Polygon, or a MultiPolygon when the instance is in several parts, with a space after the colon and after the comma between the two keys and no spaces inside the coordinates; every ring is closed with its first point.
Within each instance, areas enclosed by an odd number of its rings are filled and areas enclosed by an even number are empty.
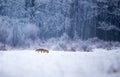
{"type": "Polygon", "coordinates": [[[59,50],[88,40],[120,42],[119,0],[0,0],[0,48],[59,50]]]}

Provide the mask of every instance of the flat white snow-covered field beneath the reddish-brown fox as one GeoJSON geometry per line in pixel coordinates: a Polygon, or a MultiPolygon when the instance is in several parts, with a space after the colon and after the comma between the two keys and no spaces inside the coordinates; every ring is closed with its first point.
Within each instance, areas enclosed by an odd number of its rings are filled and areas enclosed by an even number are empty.
{"type": "Polygon", "coordinates": [[[0,51],[0,77],[120,77],[120,50],[0,51]]]}

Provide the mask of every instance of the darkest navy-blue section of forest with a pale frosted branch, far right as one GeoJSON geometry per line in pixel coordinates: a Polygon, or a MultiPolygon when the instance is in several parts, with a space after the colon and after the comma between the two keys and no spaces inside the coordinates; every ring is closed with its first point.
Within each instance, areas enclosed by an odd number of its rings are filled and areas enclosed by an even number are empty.
{"type": "Polygon", "coordinates": [[[119,40],[120,36],[120,1],[119,0],[97,0],[96,25],[97,36],[105,40],[119,40]],[[101,33],[100,33],[101,32],[101,33]]]}

